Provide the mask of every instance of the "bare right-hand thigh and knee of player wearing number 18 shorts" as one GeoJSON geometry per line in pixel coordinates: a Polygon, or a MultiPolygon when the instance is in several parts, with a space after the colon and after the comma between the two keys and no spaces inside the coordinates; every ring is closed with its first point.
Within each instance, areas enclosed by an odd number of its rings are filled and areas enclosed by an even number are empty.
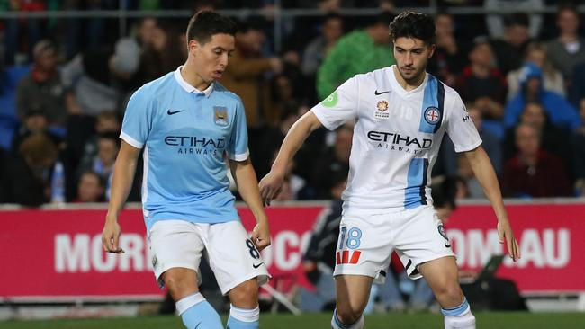
{"type": "Polygon", "coordinates": [[[459,286],[455,257],[442,257],[420,264],[419,271],[443,308],[461,305],[464,294],[459,286]]]}

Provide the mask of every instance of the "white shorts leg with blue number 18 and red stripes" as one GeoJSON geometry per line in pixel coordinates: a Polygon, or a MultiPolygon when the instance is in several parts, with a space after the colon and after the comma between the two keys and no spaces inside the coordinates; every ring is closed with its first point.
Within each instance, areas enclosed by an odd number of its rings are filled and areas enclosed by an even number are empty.
{"type": "Polygon", "coordinates": [[[387,215],[348,211],[339,224],[333,275],[363,275],[383,283],[392,254],[387,215]]]}

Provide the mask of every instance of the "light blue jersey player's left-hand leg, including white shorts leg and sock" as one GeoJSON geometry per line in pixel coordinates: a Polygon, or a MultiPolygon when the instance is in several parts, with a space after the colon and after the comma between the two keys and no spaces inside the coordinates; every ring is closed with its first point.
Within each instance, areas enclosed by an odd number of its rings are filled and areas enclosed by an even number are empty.
{"type": "Polygon", "coordinates": [[[223,328],[220,315],[199,292],[203,244],[195,226],[182,220],[160,221],[150,229],[148,241],[157,280],[169,290],[184,325],[223,328]]]}

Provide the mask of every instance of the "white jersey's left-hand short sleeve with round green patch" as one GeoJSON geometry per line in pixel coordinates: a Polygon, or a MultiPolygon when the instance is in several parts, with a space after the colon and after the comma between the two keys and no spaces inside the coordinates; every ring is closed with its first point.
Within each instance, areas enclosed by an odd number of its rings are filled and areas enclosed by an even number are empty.
{"type": "Polygon", "coordinates": [[[325,100],[315,105],[311,111],[327,129],[338,128],[347,120],[355,119],[357,116],[358,87],[354,76],[341,84],[325,100]]]}

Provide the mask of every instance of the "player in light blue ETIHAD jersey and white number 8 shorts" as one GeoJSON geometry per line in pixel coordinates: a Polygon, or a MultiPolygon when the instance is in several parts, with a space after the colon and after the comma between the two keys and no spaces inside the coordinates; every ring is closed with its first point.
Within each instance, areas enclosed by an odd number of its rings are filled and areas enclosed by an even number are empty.
{"type": "Polygon", "coordinates": [[[104,250],[123,253],[118,217],[144,149],[142,207],[152,264],[187,328],[223,328],[198,291],[202,253],[221,292],[229,295],[229,329],[258,327],[258,286],[269,277],[259,253],[270,245],[268,222],[248,158],[244,107],[236,94],[216,82],[235,49],[235,32],[227,17],[195,14],[187,27],[184,66],[132,95],[103,227],[104,250]],[[251,237],[234,208],[226,158],[257,219],[251,237]]]}

